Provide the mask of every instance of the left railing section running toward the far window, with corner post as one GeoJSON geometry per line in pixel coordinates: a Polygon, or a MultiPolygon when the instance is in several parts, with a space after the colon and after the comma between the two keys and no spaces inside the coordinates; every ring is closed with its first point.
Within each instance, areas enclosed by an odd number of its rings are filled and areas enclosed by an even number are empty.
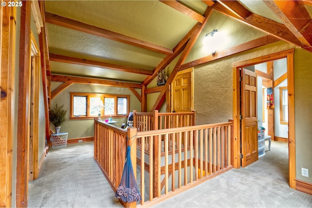
{"type": "MultiPolygon", "coordinates": [[[[121,181],[128,145],[131,145],[133,150],[131,151],[131,160],[136,167],[137,151],[136,143],[133,141],[137,131],[135,128],[124,130],[98,121],[98,118],[95,118],[94,124],[94,159],[116,192],[121,181]],[[127,140],[127,138],[129,139],[127,140]]],[[[136,175],[136,168],[134,168],[134,173],[136,175]]],[[[136,206],[136,203],[123,203],[122,201],[120,203],[124,207],[136,206]]]]}

